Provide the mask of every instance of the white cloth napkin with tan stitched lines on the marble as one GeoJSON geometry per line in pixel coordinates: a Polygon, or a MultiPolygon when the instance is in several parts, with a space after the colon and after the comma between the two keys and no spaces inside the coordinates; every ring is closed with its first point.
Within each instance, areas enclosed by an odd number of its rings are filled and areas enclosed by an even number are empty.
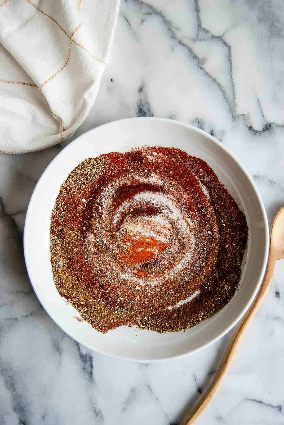
{"type": "Polygon", "coordinates": [[[93,105],[119,0],[0,0],[0,151],[72,136],[93,105]],[[33,3],[34,1],[34,3],[33,3]]]}

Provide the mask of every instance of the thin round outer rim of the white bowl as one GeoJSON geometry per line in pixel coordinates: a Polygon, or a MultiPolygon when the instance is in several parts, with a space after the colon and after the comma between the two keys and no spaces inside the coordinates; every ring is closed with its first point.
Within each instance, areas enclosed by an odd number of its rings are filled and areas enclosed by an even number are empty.
{"type": "MultiPolygon", "coordinates": [[[[71,170],[70,170],[71,171],[71,170]]],[[[266,210],[264,207],[264,203],[262,201],[262,198],[259,194],[259,190],[256,187],[255,182],[253,181],[252,177],[250,176],[250,174],[247,172],[247,170],[245,169],[245,167],[242,165],[242,163],[239,161],[239,159],[231,152],[231,150],[229,150],[224,144],[222,144],[221,142],[219,142],[219,140],[217,140],[214,136],[211,136],[211,134],[206,133],[204,130],[201,130],[200,128],[194,127],[193,125],[181,122],[181,121],[177,121],[177,120],[173,120],[173,119],[168,119],[168,118],[160,118],[160,117],[132,117],[132,118],[124,118],[124,119],[118,119],[115,121],[110,121],[107,122],[105,124],[102,125],[98,125],[97,127],[94,127],[88,131],[86,131],[85,133],[81,134],[80,136],[76,137],[76,139],[74,139],[72,142],[70,142],[69,144],[67,144],[67,146],[65,146],[54,158],[53,160],[48,164],[48,166],[45,168],[45,170],[43,171],[42,175],[40,176],[39,180],[37,181],[37,184],[34,188],[34,191],[31,195],[29,204],[28,204],[28,209],[26,212],[26,217],[25,217],[25,225],[24,225],[24,236],[23,236],[23,246],[24,246],[24,258],[25,258],[25,265],[27,268],[27,272],[28,272],[28,277],[31,281],[31,285],[34,289],[35,294],[37,295],[37,298],[39,299],[39,302],[42,304],[42,306],[44,307],[45,311],[48,313],[48,315],[51,317],[51,319],[57,324],[57,326],[59,326],[60,329],[62,329],[67,335],[69,335],[71,338],[73,338],[75,341],[77,341],[78,343],[82,344],[83,346],[89,348],[90,350],[96,351],[99,354],[104,354],[108,357],[112,357],[112,358],[116,358],[116,359],[120,359],[120,360],[129,360],[132,362],[139,362],[139,363],[157,363],[157,362],[161,362],[161,361],[168,361],[168,360],[174,360],[174,359],[180,359],[183,357],[186,357],[190,354],[194,354],[197,351],[202,350],[202,348],[206,348],[208,346],[210,346],[211,344],[213,344],[214,342],[216,342],[217,340],[219,340],[220,338],[222,338],[225,334],[227,334],[232,328],[233,326],[235,326],[239,320],[244,316],[244,314],[247,312],[247,310],[250,308],[254,298],[256,297],[257,292],[259,291],[260,285],[262,283],[262,280],[264,278],[264,273],[266,270],[266,266],[267,266],[267,260],[268,260],[268,254],[269,254],[269,226],[268,226],[268,220],[267,220],[267,214],[266,214],[266,210]],[[230,325],[227,326],[226,329],[224,329],[222,332],[220,332],[220,334],[218,334],[216,337],[214,337],[212,340],[200,345],[197,348],[192,349],[191,351],[186,351],[182,354],[176,354],[176,355],[172,355],[169,357],[164,357],[164,358],[158,358],[158,359],[138,359],[138,358],[133,358],[133,357],[127,357],[127,356],[119,356],[119,355],[115,355],[115,354],[111,354],[108,353],[104,350],[100,350],[97,348],[93,348],[92,346],[86,344],[83,341],[80,341],[79,337],[75,337],[73,335],[72,330],[70,329],[65,329],[65,326],[61,326],[59,325],[59,323],[56,320],[55,315],[53,314],[53,312],[50,311],[50,309],[48,308],[48,306],[46,306],[45,304],[45,299],[40,297],[40,295],[37,292],[36,287],[34,286],[34,283],[32,282],[31,279],[31,269],[30,269],[30,265],[29,265],[29,261],[28,261],[28,247],[27,247],[27,239],[28,239],[28,235],[27,235],[27,226],[26,223],[28,222],[28,218],[29,218],[29,214],[31,211],[31,208],[33,207],[33,199],[35,197],[35,194],[37,192],[37,188],[39,187],[39,185],[41,184],[42,179],[45,177],[45,174],[47,172],[47,170],[49,169],[49,167],[52,166],[53,161],[55,161],[56,159],[58,159],[59,156],[63,155],[63,152],[65,150],[68,150],[70,148],[70,146],[75,143],[75,142],[79,142],[79,139],[84,138],[86,136],[86,134],[88,133],[92,133],[95,132],[98,128],[101,127],[105,127],[105,126],[110,126],[110,125],[115,125],[118,122],[133,122],[133,121],[137,121],[137,120],[143,120],[143,121],[157,121],[157,122],[170,122],[172,125],[178,125],[181,127],[185,127],[187,129],[191,129],[193,131],[195,131],[196,133],[200,133],[203,136],[205,136],[206,138],[210,139],[211,142],[213,142],[214,144],[217,144],[219,147],[221,147],[222,150],[224,150],[230,157],[231,159],[233,159],[233,161],[236,162],[236,164],[241,168],[242,172],[245,174],[245,176],[247,177],[247,179],[250,181],[250,184],[256,194],[256,197],[259,201],[259,205],[261,208],[261,212],[262,212],[262,217],[264,220],[264,239],[265,239],[265,249],[264,249],[264,258],[262,258],[262,268],[261,268],[261,272],[259,274],[259,279],[257,281],[257,284],[255,286],[255,289],[252,293],[252,295],[250,296],[250,299],[248,300],[248,302],[246,303],[245,307],[242,309],[242,311],[238,314],[238,316],[236,317],[235,320],[233,320],[230,325]]]]}

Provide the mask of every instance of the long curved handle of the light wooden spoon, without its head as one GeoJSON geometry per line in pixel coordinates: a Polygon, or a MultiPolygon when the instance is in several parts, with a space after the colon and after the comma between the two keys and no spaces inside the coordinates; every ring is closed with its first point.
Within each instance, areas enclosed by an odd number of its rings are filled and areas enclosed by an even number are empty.
{"type": "Polygon", "coordinates": [[[233,358],[233,355],[236,351],[236,347],[248,325],[250,322],[250,319],[253,317],[254,313],[262,303],[263,297],[265,295],[265,292],[270,284],[270,281],[273,276],[274,266],[276,263],[276,259],[273,255],[271,255],[271,250],[269,252],[269,258],[267,262],[267,269],[262,281],[262,285],[259,288],[259,292],[256,295],[256,298],[254,299],[252,305],[250,306],[250,309],[248,310],[247,314],[243,317],[239,325],[237,326],[236,330],[234,331],[231,340],[228,343],[228,346],[225,350],[225,353],[222,357],[221,363],[219,364],[219,367],[215,373],[215,376],[203,394],[203,396],[200,398],[200,400],[197,402],[197,404],[194,406],[191,413],[181,422],[180,425],[191,425],[193,424],[198,416],[201,414],[201,412],[205,409],[205,407],[208,405],[208,403],[211,401],[212,397],[216,393],[217,389],[219,388],[219,385],[222,381],[222,378],[224,377],[225,373],[227,372],[227,369],[231,363],[231,360],[233,358]]]}

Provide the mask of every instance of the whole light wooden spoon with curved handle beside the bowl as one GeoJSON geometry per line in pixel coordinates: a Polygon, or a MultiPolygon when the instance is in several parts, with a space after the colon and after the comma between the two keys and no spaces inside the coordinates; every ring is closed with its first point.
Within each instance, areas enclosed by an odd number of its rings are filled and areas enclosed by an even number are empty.
{"type": "Polygon", "coordinates": [[[236,347],[248,323],[250,322],[256,310],[262,303],[265,292],[267,291],[267,288],[273,276],[275,263],[281,258],[284,258],[284,207],[282,207],[273,218],[270,230],[270,247],[267,268],[262,284],[259,288],[259,292],[257,293],[252,305],[250,306],[250,309],[242,318],[241,322],[234,331],[233,336],[231,337],[231,340],[228,343],[226,351],[222,357],[221,363],[219,364],[219,367],[215,373],[211,384],[209,385],[203,396],[200,398],[199,402],[194,406],[194,409],[191,411],[191,413],[186,417],[186,419],[183,420],[183,422],[181,422],[180,425],[193,424],[216,393],[222,381],[222,378],[227,372],[227,369],[236,351],[236,347]]]}

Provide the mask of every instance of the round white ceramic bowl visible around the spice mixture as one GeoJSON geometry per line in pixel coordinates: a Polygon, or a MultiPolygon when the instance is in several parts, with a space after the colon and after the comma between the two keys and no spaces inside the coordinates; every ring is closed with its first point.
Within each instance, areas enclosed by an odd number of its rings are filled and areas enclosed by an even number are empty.
{"type": "Polygon", "coordinates": [[[162,118],[130,118],[110,122],[83,134],[63,149],[42,174],[25,221],[25,261],[34,291],[53,320],[72,338],[110,356],[137,361],[181,357],[213,343],[246,312],[261,284],[268,256],[269,230],[264,205],[253,180],[239,161],[218,142],[191,125],[162,118]],[[79,322],[76,310],[53,283],[49,223],[60,184],[79,162],[145,144],[177,147],[206,161],[245,212],[249,240],[239,290],[213,317],[191,329],[159,334],[120,327],[107,334],[79,322]]]}

